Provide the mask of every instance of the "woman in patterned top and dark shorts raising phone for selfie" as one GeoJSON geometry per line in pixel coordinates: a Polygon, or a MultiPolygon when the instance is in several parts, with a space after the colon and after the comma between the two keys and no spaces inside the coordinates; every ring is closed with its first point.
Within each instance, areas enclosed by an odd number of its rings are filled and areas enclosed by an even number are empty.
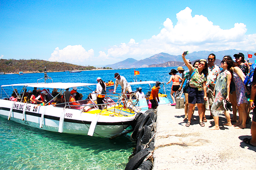
{"type": "Polygon", "coordinates": [[[203,122],[203,103],[204,100],[207,100],[206,95],[206,77],[208,74],[208,66],[206,61],[200,61],[198,65],[198,69],[189,64],[189,62],[185,58],[186,54],[182,54],[182,59],[186,64],[187,68],[190,72],[190,80],[189,80],[189,87],[188,87],[188,120],[186,123],[186,127],[190,126],[190,120],[193,113],[193,107],[197,103],[198,114],[199,114],[199,124],[201,127],[205,126],[203,122]]]}

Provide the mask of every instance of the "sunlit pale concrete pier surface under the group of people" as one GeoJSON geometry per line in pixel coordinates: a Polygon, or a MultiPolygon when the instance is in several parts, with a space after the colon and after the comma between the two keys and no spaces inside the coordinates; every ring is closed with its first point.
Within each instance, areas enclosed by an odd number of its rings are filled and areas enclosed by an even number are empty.
{"type": "MultiPolygon", "coordinates": [[[[206,118],[209,115],[210,110],[206,110],[206,118]]],[[[256,169],[256,147],[242,141],[251,138],[251,122],[245,129],[235,129],[223,126],[226,118],[220,115],[220,130],[209,130],[214,125],[213,119],[207,119],[201,127],[196,110],[194,118],[197,120],[186,127],[184,109],[170,105],[157,107],[153,170],[256,169]]]]}

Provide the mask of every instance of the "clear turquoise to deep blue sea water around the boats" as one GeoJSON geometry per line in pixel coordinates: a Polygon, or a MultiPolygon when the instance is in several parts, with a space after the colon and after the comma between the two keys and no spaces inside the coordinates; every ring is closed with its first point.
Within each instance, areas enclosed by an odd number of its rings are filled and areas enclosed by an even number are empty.
{"type": "MultiPolygon", "coordinates": [[[[173,68],[177,69],[177,67],[136,69],[140,71],[137,81],[163,81],[166,84],[170,78],[168,73],[173,68]]],[[[114,81],[116,72],[125,76],[128,82],[133,82],[133,69],[95,70],[81,73],[56,72],[48,73],[48,76],[54,82],[96,83],[97,77],[101,77],[103,81],[114,81]]],[[[23,76],[0,75],[0,85],[34,83],[43,77],[44,73],[23,76]]],[[[169,99],[171,99],[171,85],[165,85],[169,99]]],[[[149,89],[147,85],[140,86],[145,93],[149,89]]],[[[132,89],[135,90],[137,87],[139,86],[132,86],[132,89]]],[[[96,86],[91,86],[91,89],[94,88],[96,86]]],[[[11,88],[4,89],[9,95],[13,91],[11,88]]],[[[20,90],[18,89],[18,92],[20,90]]],[[[118,87],[117,92],[120,91],[118,87]]],[[[87,97],[90,90],[78,88],[78,92],[87,97]]],[[[160,92],[163,92],[163,89],[160,92]]],[[[3,91],[1,95],[6,97],[3,91]]],[[[109,140],[102,137],[54,133],[0,118],[0,169],[124,169],[134,147],[136,143],[131,141],[129,135],[109,140]]]]}

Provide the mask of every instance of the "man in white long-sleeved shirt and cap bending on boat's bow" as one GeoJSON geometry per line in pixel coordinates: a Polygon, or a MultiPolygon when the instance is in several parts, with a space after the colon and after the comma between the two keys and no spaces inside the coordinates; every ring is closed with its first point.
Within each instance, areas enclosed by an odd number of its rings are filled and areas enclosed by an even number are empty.
{"type": "MultiPolygon", "coordinates": [[[[126,94],[126,92],[128,91],[127,94],[131,94],[133,91],[131,90],[131,86],[128,84],[128,82],[126,81],[125,77],[124,76],[120,76],[119,73],[115,73],[114,74],[114,78],[116,79],[116,82],[115,82],[115,87],[114,87],[114,92],[113,94],[116,93],[116,88],[117,86],[120,84],[121,86],[121,90],[122,90],[122,93],[123,94],[126,94]]],[[[130,95],[127,95],[128,97],[130,97],[130,95]]],[[[125,95],[122,95],[122,100],[124,101],[126,96],[125,95]]],[[[124,109],[126,109],[126,106],[124,104],[123,106],[124,109]]]]}

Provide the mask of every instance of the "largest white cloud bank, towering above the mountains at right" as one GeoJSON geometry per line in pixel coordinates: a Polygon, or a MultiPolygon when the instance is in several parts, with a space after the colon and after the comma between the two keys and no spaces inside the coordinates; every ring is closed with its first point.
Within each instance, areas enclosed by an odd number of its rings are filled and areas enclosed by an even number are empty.
{"type": "Polygon", "coordinates": [[[176,14],[178,20],[176,25],[167,18],[159,34],[139,43],[130,39],[127,44],[114,45],[108,49],[107,54],[100,51],[99,57],[102,60],[117,59],[118,62],[126,58],[140,60],[160,52],[179,55],[187,50],[190,52],[226,49],[256,51],[256,34],[246,35],[245,24],[235,23],[233,28],[223,30],[203,15],[192,17],[191,12],[192,10],[186,7],[176,14]]]}

